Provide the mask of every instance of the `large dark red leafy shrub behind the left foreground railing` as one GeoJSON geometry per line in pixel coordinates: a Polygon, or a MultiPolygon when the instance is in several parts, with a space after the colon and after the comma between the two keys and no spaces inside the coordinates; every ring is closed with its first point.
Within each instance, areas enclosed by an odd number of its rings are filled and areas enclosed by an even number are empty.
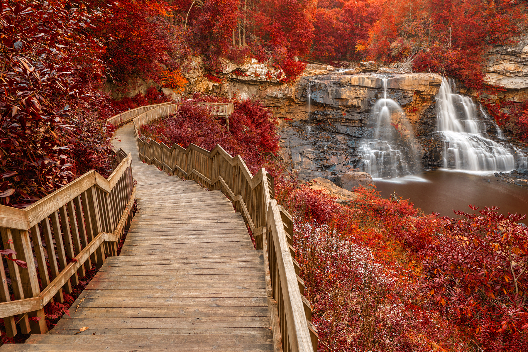
{"type": "Polygon", "coordinates": [[[88,30],[103,18],[62,1],[2,3],[2,204],[24,207],[68,183],[87,150],[85,169],[107,169],[95,159],[106,158],[110,131],[82,132],[112,113],[98,91],[104,47],[88,30]]]}

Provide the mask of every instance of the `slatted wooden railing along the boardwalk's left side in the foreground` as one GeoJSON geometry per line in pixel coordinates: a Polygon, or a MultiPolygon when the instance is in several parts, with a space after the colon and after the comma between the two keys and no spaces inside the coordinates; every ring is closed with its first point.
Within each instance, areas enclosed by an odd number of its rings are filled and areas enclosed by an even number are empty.
{"type": "Polygon", "coordinates": [[[119,150],[115,159],[108,179],[90,171],[24,210],[0,205],[4,249],[16,251],[13,259],[27,263],[22,268],[2,258],[8,272],[0,263],[0,317],[8,336],[16,335],[16,324],[22,334],[45,334],[44,306],[62,303],[63,291],[71,293],[86,270],[101,267],[106,255],[117,255],[117,243],[131,221],[136,188],[131,154],[119,150]],[[31,319],[35,317],[39,319],[31,319]]]}

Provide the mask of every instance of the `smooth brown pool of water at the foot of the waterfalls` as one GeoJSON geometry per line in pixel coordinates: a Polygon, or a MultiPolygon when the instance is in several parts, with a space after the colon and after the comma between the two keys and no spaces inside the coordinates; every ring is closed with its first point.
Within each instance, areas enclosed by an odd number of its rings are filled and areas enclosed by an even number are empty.
{"type": "Polygon", "coordinates": [[[528,214],[528,187],[505,183],[493,173],[436,169],[414,176],[376,178],[374,182],[382,197],[389,198],[396,188],[398,197],[410,198],[426,214],[455,217],[453,210],[473,213],[469,204],[480,208],[498,206],[503,214],[528,214]]]}

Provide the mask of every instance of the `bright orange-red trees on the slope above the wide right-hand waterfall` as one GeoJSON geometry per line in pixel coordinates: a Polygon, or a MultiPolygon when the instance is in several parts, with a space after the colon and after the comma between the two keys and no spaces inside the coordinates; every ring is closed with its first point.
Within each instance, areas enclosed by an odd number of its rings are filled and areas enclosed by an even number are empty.
{"type": "Polygon", "coordinates": [[[525,2],[515,0],[387,3],[370,30],[369,58],[394,62],[423,49],[416,70],[450,74],[480,88],[486,47],[520,33],[525,9],[525,2]]]}

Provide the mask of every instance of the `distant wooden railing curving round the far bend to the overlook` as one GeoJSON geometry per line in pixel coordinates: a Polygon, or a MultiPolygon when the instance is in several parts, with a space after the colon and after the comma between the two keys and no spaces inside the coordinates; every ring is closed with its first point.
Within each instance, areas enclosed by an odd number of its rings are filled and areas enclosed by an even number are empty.
{"type": "Polygon", "coordinates": [[[139,115],[142,115],[143,113],[149,110],[159,108],[159,107],[164,107],[164,106],[173,106],[174,111],[176,111],[177,107],[183,104],[191,105],[191,106],[200,106],[200,107],[208,109],[209,112],[211,112],[213,115],[219,115],[219,116],[230,116],[231,113],[233,113],[234,111],[233,103],[166,102],[166,103],[161,103],[161,104],[142,106],[139,108],[128,110],[128,111],[119,113],[116,116],[112,116],[111,118],[107,119],[106,122],[109,123],[110,125],[119,127],[123,125],[124,123],[130,122],[132,119],[136,118],[139,115]]]}

